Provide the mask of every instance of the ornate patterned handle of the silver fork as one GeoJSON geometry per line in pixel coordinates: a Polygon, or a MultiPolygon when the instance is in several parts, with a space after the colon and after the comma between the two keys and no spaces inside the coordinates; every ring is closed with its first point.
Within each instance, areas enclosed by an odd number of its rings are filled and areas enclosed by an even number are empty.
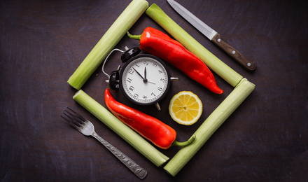
{"type": "Polygon", "coordinates": [[[106,148],[108,148],[108,150],[111,151],[111,153],[113,153],[113,155],[115,155],[128,169],[136,174],[139,179],[144,179],[146,177],[146,174],[148,174],[146,169],[138,165],[136,162],[134,162],[134,160],[131,160],[129,157],[127,157],[127,155],[119,151],[118,148],[112,146],[107,141],[102,139],[102,137],[99,137],[96,132],[93,132],[92,136],[101,142],[106,148]]]}

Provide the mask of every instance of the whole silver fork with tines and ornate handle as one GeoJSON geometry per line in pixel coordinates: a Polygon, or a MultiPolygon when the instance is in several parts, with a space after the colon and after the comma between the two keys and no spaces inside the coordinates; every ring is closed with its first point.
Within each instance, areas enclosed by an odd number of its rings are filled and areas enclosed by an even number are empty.
{"type": "Polygon", "coordinates": [[[94,125],[90,122],[90,120],[87,120],[80,116],[78,113],[70,109],[66,106],[69,111],[62,112],[62,115],[60,115],[62,118],[67,120],[71,126],[73,126],[76,130],[78,130],[80,133],[84,134],[85,136],[92,136],[95,139],[97,139],[99,142],[101,142],[106,148],[108,148],[113,155],[115,155],[128,169],[130,169],[136,176],[139,177],[139,179],[144,179],[146,177],[146,174],[148,172],[146,169],[138,165],[136,162],[131,160],[127,155],[119,151],[116,147],[109,144],[107,141],[102,139],[102,137],[99,137],[99,135],[94,130],[94,125]]]}

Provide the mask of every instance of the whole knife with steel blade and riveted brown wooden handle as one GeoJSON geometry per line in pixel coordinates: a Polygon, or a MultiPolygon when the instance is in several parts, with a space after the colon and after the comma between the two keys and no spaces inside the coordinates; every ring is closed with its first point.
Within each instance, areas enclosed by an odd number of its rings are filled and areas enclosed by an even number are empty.
{"type": "Polygon", "coordinates": [[[221,39],[221,35],[218,34],[214,29],[211,29],[208,25],[206,25],[204,22],[202,22],[199,18],[197,18],[193,13],[190,13],[189,10],[181,6],[181,4],[177,3],[174,0],[167,0],[170,6],[176,10],[177,13],[179,13],[184,19],[186,19],[188,22],[190,22],[191,25],[193,25],[196,29],[198,29],[204,36],[207,36],[210,41],[218,45],[219,48],[224,50],[230,57],[235,59],[241,66],[244,66],[245,69],[248,71],[253,71],[257,67],[255,62],[249,62],[241,53],[236,50],[235,48],[232,48],[231,45],[228,43],[225,43],[221,39]]]}

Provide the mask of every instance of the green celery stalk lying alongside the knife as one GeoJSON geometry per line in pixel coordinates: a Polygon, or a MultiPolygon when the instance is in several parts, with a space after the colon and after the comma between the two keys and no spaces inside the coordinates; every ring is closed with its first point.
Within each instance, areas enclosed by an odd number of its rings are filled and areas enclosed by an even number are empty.
{"type": "Polygon", "coordinates": [[[190,52],[193,52],[197,57],[209,66],[209,68],[221,76],[230,85],[235,87],[243,78],[239,73],[231,69],[227,64],[218,59],[209,50],[204,48],[190,34],[174,22],[169,16],[155,3],[146,10],[146,14],[164,28],[177,41],[182,43],[190,52]]]}

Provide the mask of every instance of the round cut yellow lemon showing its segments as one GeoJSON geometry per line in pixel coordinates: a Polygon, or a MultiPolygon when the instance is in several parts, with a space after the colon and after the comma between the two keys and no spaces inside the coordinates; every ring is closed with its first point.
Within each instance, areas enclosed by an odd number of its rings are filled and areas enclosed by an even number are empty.
{"type": "Polygon", "coordinates": [[[179,92],[170,101],[169,114],[181,125],[193,125],[202,114],[202,102],[193,92],[179,92]]]}

